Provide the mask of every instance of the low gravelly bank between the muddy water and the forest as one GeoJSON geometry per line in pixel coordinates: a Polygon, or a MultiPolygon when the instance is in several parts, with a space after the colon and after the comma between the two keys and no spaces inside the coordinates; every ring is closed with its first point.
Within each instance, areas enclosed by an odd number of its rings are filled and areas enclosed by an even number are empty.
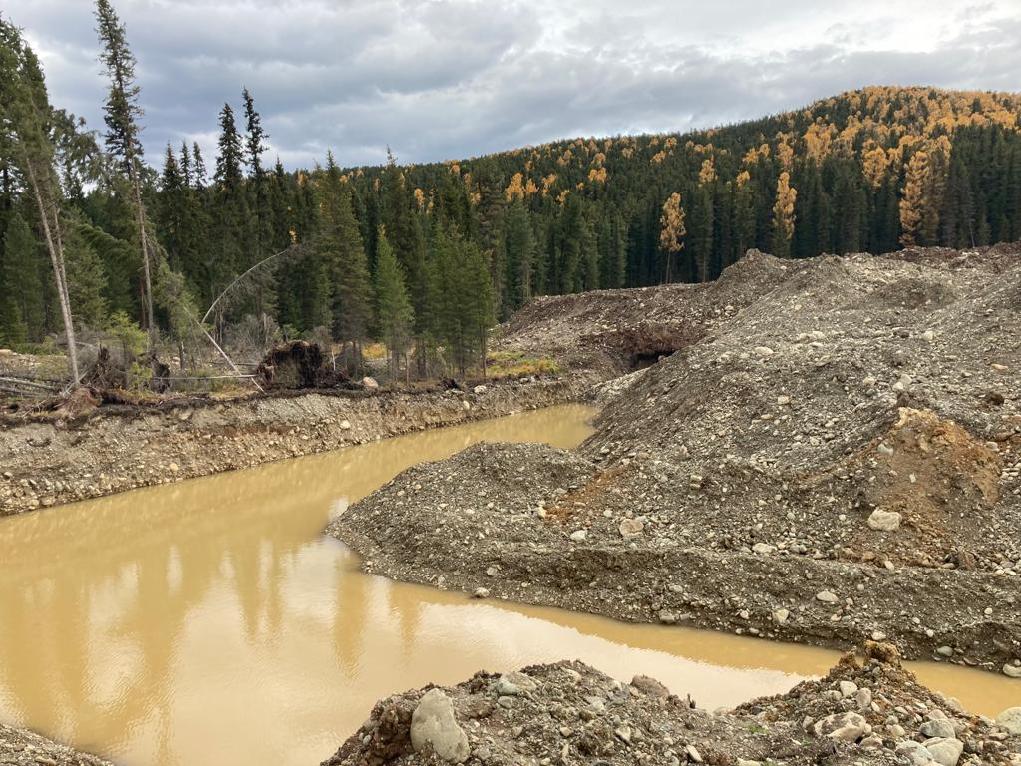
{"type": "Polygon", "coordinates": [[[0,427],[0,516],[326,452],[579,398],[595,373],[467,391],[314,391],[0,427]]]}

